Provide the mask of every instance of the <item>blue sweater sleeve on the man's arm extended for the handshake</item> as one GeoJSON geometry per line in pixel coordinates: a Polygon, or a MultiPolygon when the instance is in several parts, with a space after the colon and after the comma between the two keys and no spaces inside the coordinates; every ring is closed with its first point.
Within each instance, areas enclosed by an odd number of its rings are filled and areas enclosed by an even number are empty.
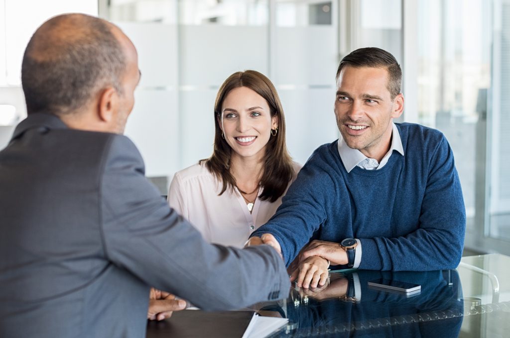
{"type": "Polygon", "coordinates": [[[328,201],[337,195],[331,193],[335,184],[330,175],[335,171],[317,154],[319,150],[301,168],[274,216],[250,236],[272,234],[287,266],[324,222],[326,206],[333,205],[328,201]]]}

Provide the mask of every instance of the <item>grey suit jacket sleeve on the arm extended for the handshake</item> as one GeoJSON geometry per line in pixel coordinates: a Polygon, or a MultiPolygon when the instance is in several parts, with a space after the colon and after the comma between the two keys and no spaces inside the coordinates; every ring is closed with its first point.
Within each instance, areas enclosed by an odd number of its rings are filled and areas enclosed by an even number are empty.
{"type": "Polygon", "coordinates": [[[143,160],[127,137],[112,137],[104,162],[103,245],[113,264],[203,309],[287,296],[289,277],[274,249],[205,242],[146,180],[143,160]]]}

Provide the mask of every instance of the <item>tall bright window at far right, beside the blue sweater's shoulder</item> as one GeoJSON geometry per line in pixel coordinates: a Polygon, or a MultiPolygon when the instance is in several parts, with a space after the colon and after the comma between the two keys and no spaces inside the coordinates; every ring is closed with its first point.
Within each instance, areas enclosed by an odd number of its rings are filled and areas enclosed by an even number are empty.
{"type": "Polygon", "coordinates": [[[418,2],[418,119],[453,149],[466,244],[508,253],[510,2],[418,2]]]}

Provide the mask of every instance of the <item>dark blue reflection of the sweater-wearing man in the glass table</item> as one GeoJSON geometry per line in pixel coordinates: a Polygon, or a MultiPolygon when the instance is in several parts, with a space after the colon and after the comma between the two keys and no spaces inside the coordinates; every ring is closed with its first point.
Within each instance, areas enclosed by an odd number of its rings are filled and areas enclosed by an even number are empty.
{"type": "Polygon", "coordinates": [[[294,329],[275,336],[457,337],[462,325],[462,287],[455,270],[330,274],[321,289],[293,289],[287,317],[294,329]],[[416,293],[377,290],[376,279],[421,285],[416,293]]]}

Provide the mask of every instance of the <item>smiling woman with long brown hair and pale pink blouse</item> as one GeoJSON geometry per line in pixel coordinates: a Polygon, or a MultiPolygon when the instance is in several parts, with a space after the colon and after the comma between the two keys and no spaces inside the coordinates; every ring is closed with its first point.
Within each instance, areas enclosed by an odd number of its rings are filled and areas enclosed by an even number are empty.
{"type": "Polygon", "coordinates": [[[212,156],[175,174],[168,202],[206,240],[242,247],[275,213],[300,165],[287,151],[282,104],[265,75],[229,76],[214,121],[212,156]]]}

